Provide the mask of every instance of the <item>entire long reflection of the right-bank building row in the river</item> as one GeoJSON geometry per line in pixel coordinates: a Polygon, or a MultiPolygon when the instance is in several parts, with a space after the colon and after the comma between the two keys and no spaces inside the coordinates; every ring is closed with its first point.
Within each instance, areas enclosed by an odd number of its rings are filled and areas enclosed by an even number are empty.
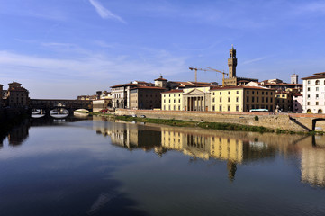
{"type": "Polygon", "coordinates": [[[154,150],[163,156],[176,150],[197,159],[227,161],[228,177],[235,179],[239,164],[284,157],[301,156],[303,183],[325,187],[325,137],[288,134],[260,134],[220,130],[148,126],[137,123],[97,121],[97,133],[110,136],[115,146],[154,150]]]}

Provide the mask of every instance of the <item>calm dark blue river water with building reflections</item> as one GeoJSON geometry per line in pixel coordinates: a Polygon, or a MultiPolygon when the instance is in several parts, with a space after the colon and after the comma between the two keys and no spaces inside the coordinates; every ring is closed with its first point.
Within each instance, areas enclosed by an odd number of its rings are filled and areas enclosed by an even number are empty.
{"type": "Polygon", "coordinates": [[[2,138],[1,215],[325,215],[325,138],[101,118],[2,138]]]}

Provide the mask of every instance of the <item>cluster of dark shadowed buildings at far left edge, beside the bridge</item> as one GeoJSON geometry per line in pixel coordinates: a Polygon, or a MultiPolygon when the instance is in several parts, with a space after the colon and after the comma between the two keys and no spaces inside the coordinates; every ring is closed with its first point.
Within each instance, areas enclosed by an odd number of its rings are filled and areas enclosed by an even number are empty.
{"type": "Polygon", "coordinates": [[[0,84],[0,108],[22,108],[29,103],[29,91],[22,84],[13,82],[8,84],[8,89],[4,90],[4,85],[0,84]]]}

